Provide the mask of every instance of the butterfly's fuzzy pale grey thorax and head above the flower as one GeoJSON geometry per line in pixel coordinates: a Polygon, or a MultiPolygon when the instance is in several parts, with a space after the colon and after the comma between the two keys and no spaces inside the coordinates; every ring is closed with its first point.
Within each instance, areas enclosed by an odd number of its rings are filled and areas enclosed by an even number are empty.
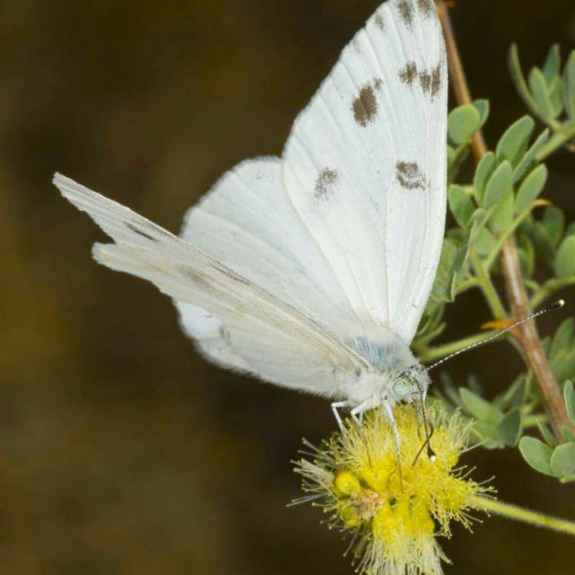
{"type": "Polygon", "coordinates": [[[394,405],[425,397],[428,373],[409,346],[394,333],[359,336],[347,343],[369,364],[369,368],[356,374],[353,382],[346,378],[344,394],[349,402],[370,409],[384,401],[394,405]]]}

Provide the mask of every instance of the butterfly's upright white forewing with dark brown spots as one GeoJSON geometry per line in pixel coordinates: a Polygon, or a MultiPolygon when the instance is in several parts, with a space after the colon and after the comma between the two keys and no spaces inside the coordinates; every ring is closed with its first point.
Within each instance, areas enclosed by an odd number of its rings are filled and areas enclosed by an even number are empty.
{"type": "Polygon", "coordinates": [[[447,70],[435,7],[383,4],[296,119],[288,196],[354,312],[406,343],[446,215],[447,70]]]}

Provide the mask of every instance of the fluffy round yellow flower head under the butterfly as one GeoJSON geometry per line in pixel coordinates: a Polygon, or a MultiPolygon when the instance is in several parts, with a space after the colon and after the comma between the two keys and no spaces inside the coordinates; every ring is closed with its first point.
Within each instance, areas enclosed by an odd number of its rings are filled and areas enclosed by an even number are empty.
{"type": "Polygon", "coordinates": [[[385,414],[372,411],[361,426],[349,421],[341,433],[312,447],[311,460],[296,463],[303,476],[304,500],[329,514],[330,526],[353,532],[349,550],[358,572],[369,575],[438,575],[447,557],[438,535],[450,523],[469,526],[469,511],[481,509],[482,487],[458,466],[469,435],[457,415],[429,411],[431,449],[421,449],[423,423],[411,404],[394,409],[401,440],[398,458],[394,431],[385,414]]]}

